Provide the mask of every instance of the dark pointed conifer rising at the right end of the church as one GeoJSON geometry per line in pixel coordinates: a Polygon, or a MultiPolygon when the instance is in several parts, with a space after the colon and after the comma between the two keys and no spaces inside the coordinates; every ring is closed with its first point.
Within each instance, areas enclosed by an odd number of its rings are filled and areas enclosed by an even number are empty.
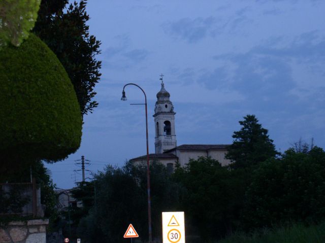
{"type": "Polygon", "coordinates": [[[278,154],[268,130],[258,123],[255,115],[245,116],[239,124],[242,128],[234,132],[233,144],[225,156],[231,159],[232,168],[247,168],[278,154]]]}

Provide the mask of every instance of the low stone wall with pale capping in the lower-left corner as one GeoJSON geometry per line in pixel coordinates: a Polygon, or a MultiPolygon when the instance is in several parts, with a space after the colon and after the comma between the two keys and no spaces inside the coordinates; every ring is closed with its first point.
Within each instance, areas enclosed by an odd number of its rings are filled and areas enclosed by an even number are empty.
{"type": "Polygon", "coordinates": [[[10,222],[0,227],[0,243],[46,243],[48,219],[10,222]]]}

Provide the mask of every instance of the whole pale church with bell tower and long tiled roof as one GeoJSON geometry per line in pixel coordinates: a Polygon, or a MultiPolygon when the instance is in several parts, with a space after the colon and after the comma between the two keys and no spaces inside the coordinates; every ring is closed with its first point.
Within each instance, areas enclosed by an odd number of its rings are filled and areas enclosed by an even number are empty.
{"type": "MultiPolygon", "coordinates": [[[[165,89],[165,84],[161,76],[161,88],[157,93],[157,101],[154,108],[154,126],[155,126],[155,153],[149,154],[150,161],[158,161],[167,166],[168,171],[172,172],[175,164],[185,166],[189,159],[198,159],[199,157],[211,157],[218,160],[222,166],[230,163],[225,159],[229,145],[221,144],[183,144],[177,146],[175,131],[175,111],[170,93],[165,89]]],[[[133,163],[146,162],[147,155],[133,158],[133,163]]]]}

